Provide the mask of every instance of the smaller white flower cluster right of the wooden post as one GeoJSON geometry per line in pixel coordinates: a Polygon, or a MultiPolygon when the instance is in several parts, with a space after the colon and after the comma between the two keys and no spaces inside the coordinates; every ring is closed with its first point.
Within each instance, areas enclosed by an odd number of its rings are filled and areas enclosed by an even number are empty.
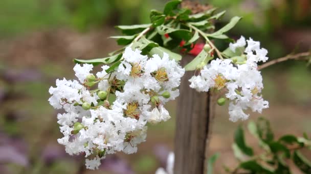
{"type": "Polygon", "coordinates": [[[246,61],[235,65],[230,59],[216,59],[201,70],[201,75],[193,76],[189,81],[190,87],[197,91],[221,90],[226,88],[226,98],[229,104],[230,120],[233,122],[246,120],[249,114],[244,110],[250,108],[253,112],[261,113],[262,109],[269,107],[269,102],[262,99],[260,93],[263,89],[262,76],[257,70],[257,63],[268,60],[268,51],[260,48],[260,42],[253,39],[245,40],[241,37],[236,43],[230,43],[230,49],[243,49],[246,46],[246,61]]]}

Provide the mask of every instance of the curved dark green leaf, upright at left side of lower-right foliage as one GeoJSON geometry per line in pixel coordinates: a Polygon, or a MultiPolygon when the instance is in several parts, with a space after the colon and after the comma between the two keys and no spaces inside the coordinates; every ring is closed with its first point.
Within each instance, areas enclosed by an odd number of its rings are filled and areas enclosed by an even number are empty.
{"type": "Polygon", "coordinates": [[[246,155],[248,156],[253,156],[253,149],[251,147],[248,147],[245,143],[245,138],[244,138],[244,131],[241,126],[237,128],[235,131],[234,135],[234,142],[237,144],[239,149],[246,155]]]}

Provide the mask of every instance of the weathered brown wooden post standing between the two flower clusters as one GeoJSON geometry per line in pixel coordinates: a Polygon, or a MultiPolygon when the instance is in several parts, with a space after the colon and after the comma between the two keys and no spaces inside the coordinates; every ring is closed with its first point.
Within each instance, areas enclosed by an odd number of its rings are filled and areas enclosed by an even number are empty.
{"type": "MultiPolygon", "coordinates": [[[[183,57],[185,66],[190,57],[183,57]]],[[[175,131],[175,174],[203,174],[206,172],[207,147],[211,117],[211,97],[208,93],[198,93],[189,87],[189,79],[194,72],[186,72],[177,99],[175,131]]]]}

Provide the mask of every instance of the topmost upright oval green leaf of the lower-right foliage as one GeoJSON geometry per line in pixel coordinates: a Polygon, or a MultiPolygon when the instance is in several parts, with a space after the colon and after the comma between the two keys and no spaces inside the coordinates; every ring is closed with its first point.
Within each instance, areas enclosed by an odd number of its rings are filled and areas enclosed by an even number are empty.
{"type": "Polygon", "coordinates": [[[270,122],[262,117],[258,118],[257,122],[257,130],[259,138],[264,142],[270,142],[274,139],[274,134],[270,127],[270,122]]]}

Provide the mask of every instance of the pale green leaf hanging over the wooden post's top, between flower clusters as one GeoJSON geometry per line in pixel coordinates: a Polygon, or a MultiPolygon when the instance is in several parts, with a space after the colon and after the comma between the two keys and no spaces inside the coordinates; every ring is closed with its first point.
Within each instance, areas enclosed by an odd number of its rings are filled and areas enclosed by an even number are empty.
{"type": "Polygon", "coordinates": [[[205,49],[202,49],[202,51],[185,66],[185,70],[194,71],[200,68],[202,64],[206,65],[212,59],[213,57],[210,56],[210,54],[206,52],[205,49]]]}

